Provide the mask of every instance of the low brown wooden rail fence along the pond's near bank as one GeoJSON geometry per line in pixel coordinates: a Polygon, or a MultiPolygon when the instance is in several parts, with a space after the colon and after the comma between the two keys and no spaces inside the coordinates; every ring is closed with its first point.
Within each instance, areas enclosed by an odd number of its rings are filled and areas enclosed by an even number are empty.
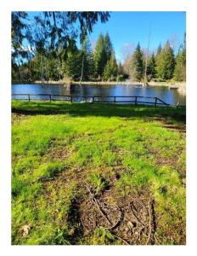
{"type": "MultiPolygon", "coordinates": [[[[66,101],[66,102],[83,102],[81,99],[89,99],[90,103],[133,103],[137,104],[149,104],[155,106],[172,106],[166,102],[163,102],[158,97],[150,97],[150,96],[70,96],[70,95],[59,95],[59,94],[25,94],[25,93],[17,93],[12,94],[13,99],[16,100],[48,100],[49,102],[52,101],[66,101]],[[78,99],[78,100],[77,100],[78,99]],[[107,100],[107,99],[110,99],[107,100]],[[125,99],[125,100],[123,100],[125,99]],[[144,99],[148,99],[149,102],[146,102],[144,99]],[[151,101],[152,100],[152,101],[151,101]]],[[[177,106],[177,105],[176,105],[177,106]]],[[[178,106],[184,107],[184,106],[178,106]]]]}

